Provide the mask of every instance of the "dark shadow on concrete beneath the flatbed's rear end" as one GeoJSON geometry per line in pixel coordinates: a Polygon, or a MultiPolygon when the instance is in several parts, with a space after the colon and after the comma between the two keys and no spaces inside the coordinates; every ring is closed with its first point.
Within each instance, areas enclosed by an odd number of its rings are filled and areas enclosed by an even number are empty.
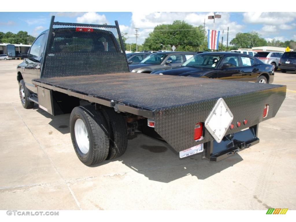
{"type": "Polygon", "coordinates": [[[165,142],[139,134],[136,138],[128,141],[127,151],[122,157],[104,161],[92,167],[98,167],[112,161],[121,161],[149,180],[169,183],[187,175],[196,176],[203,180],[232,167],[242,160],[242,157],[238,154],[220,162],[202,159],[200,154],[180,159],[179,154],[172,151],[171,147],[165,142]]]}

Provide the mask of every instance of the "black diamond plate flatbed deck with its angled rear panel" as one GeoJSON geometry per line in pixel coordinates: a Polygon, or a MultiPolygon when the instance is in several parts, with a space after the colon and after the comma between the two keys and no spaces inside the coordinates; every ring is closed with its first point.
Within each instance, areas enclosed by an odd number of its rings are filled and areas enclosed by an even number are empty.
{"type": "MultiPolygon", "coordinates": [[[[155,131],[177,152],[214,140],[205,130],[204,139],[194,141],[194,126],[205,122],[219,98],[234,115],[233,123],[247,119],[245,127],[249,127],[274,117],[286,95],[286,86],[281,85],[145,73],[43,78],[35,82],[55,86],[57,91],[62,88],[154,110],[155,131]],[[265,104],[269,104],[269,112],[263,119],[265,104]]],[[[226,135],[241,129],[228,129],[226,135]]]]}

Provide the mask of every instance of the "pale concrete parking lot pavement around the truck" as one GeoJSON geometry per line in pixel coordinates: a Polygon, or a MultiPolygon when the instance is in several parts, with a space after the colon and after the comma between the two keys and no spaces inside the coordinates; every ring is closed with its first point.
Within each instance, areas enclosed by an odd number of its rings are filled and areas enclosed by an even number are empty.
{"type": "Polygon", "coordinates": [[[260,143],[218,163],[180,160],[138,134],[126,153],[93,167],[77,158],[70,115],[22,108],[16,65],[0,61],[0,209],[296,209],[296,73],[275,118],[260,124],[260,143]]]}

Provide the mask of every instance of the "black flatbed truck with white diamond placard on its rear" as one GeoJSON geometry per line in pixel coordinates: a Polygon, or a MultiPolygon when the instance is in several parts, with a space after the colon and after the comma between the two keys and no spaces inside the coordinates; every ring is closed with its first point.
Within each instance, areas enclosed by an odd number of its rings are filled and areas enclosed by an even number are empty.
{"type": "MultiPolygon", "coordinates": [[[[52,115],[71,113],[71,138],[82,163],[123,155],[135,131],[165,140],[180,157],[202,153],[210,161],[259,142],[258,124],[276,115],[286,86],[130,73],[115,24],[62,23],[52,17],[49,30],[41,33],[40,78],[26,82],[21,70],[28,65],[18,67],[25,108],[37,103],[52,115]]],[[[30,51],[17,56],[34,60],[30,51]]]]}

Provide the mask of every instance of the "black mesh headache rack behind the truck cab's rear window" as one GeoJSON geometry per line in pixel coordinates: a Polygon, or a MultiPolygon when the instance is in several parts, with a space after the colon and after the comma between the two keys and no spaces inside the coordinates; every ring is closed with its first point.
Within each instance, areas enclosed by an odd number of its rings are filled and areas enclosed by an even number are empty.
{"type": "Polygon", "coordinates": [[[118,22],[93,25],[54,22],[52,17],[41,78],[129,72],[118,22]]]}

